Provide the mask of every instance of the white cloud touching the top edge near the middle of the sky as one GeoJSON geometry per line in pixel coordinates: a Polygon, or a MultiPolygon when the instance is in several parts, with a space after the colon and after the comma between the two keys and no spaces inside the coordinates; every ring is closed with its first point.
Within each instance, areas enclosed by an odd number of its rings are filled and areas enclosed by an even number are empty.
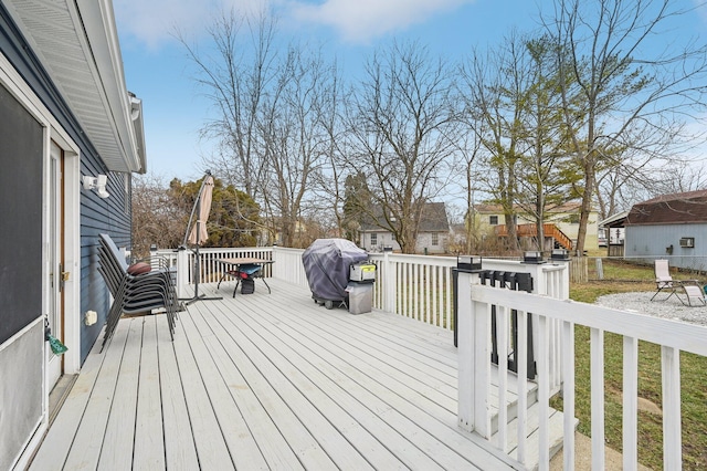
{"type": "Polygon", "coordinates": [[[291,3],[291,11],[298,21],[335,28],[346,41],[367,42],[474,1],[325,0],[320,4],[295,1],[291,3]]]}

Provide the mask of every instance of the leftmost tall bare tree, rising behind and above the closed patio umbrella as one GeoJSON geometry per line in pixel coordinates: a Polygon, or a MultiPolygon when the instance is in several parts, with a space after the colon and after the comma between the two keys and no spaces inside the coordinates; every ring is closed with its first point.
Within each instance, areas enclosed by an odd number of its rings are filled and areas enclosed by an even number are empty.
{"type": "Polygon", "coordinates": [[[260,197],[268,170],[258,119],[281,65],[276,32],[276,20],[264,11],[247,17],[231,10],[214,18],[207,52],[177,34],[197,67],[196,82],[217,111],[201,129],[202,137],[218,142],[205,164],[253,198],[260,197]]]}

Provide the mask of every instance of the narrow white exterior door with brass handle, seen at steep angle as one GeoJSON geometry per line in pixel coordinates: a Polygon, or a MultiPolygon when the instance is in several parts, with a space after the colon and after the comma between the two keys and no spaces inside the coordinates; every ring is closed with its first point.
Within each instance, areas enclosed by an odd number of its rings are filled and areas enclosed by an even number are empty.
{"type": "MultiPolygon", "coordinates": [[[[50,151],[50,216],[49,216],[49,257],[50,257],[50,296],[49,296],[49,327],[52,335],[64,342],[64,158],[62,149],[52,142],[50,151]]],[[[48,350],[48,387],[52,390],[63,374],[63,356],[48,350]]]]}

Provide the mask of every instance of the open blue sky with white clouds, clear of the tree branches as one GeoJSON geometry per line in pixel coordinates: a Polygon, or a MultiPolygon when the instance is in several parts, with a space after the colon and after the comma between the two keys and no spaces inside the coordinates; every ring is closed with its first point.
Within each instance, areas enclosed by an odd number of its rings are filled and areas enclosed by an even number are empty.
{"type": "MultiPolygon", "coordinates": [[[[198,179],[211,144],[199,139],[209,116],[183,46],[179,28],[203,42],[204,28],[222,9],[258,9],[266,0],[114,0],[128,90],[143,100],[148,171],[166,180],[198,179]]],[[[693,1],[682,0],[685,7],[693,1]]],[[[320,42],[344,61],[345,70],[391,38],[418,39],[433,52],[456,61],[473,46],[498,43],[511,29],[538,27],[538,11],[551,0],[271,0],[281,30],[320,42]]],[[[699,13],[705,13],[701,8],[699,13]]],[[[707,28],[698,12],[680,33],[707,28]]],[[[703,39],[704,41],[704,39],[703,39]]]]}

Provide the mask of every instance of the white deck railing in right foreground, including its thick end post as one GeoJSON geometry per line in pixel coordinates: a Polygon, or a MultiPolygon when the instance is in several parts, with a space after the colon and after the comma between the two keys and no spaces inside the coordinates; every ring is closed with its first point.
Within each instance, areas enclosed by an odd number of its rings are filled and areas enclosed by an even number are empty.
{"type": "MultiPolygon", "coordinates": [[[[680,376],[679,354],[689,352],[707,356],[707,327],[662,320],[641,314],[627,313],[591,304],[562,301],[521,292],[500,291],[477,284],[474,274],[460,275],[458,312],[458,421],[464,429],[472,430],[492,441],[504,452],[509,442],[517,440],[516,458],[525,462],[528,454],[526,430],[528,412],[524,402],[528,381],[525,379],[527,337],[526,316],[532,313],[537,320],[536,356],[538,375],[540,469],[549,465],[549,399],[551,395],[551,324],[560,323],[560,345],[564,362],[561,366],[563,385],[563,452],[564,469],[574,467],[574,325],[584,325],[591,332],[591,423],[592,423],[592,469],[604,469],[604,333],[623,336],[623,467],[637,468],[637,358],[639,341],[652,342],[662,347],[663,380],[663,448],[664,469],[682,468],[680,425],[680,376]],[[499,364],[498,385],[492,385],[490,364],[490,306],[496,305],[496,322],[502,324],[499,333],[509,323],[511,310],[519,316],[518,359],[520,366],[517,379],[519,398],[517,437],[509,437],[506,412],[502,408],[498,432],[492,440],[490,397],[498,394],[499,404],[505,404],[508,391],[505,366],[499,364]],[[497,388],[497,390],[494,390],[497,388]]],[[[498,342],[506,345],[507,335],[499,335],[498,342]]],[[[587,387],[582,385],[581,387],[587,387]]],[[[514,391],[516,393],[516,391],[514,391]]]]}

